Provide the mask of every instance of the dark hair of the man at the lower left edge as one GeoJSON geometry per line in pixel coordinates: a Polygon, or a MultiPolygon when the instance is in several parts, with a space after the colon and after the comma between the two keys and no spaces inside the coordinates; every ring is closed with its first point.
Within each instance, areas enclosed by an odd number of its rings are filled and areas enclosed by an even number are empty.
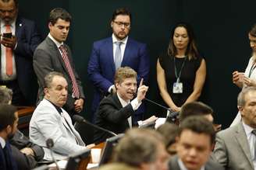
{"type": "Polygon", "coordinates": [[[4,130],[8,125],[12,126],[16,117],[17,109],[15,106],[8,104],[0,104],[0,131],[4,130]]]}

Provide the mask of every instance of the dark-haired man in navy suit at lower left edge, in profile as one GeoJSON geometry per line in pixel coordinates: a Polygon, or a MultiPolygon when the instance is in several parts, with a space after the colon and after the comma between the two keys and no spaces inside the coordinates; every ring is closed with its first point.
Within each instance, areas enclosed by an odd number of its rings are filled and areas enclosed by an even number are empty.
{"type": "Polygon", "coordinates": [[[0,169],[17,170],[16,161],[12,157],[9,139],[17,130],[18,113],[16,107],[0,104],[0,169]]]}

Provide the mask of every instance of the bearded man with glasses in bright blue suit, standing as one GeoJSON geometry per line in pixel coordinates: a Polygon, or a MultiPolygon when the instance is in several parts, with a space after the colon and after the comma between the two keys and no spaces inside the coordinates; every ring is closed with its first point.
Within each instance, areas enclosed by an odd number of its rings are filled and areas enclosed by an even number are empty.
{"type": "MultiPolygon", "coordinates": [[[[92,113],[96,112],[101,99],[116,92],[114,75],[119,67],[128,66],[137,72],[137,82],[144,78],[147,84],[150,61],[146,44],[128,37],[131,13],[127,9],[116,9],[112,15],[112,36],[94,42],[88,63],[88,75],[95,87],[92,113]]],[[[133,116],[133,123],[141,120],[145,106],[141,105],[133,116]]]]}

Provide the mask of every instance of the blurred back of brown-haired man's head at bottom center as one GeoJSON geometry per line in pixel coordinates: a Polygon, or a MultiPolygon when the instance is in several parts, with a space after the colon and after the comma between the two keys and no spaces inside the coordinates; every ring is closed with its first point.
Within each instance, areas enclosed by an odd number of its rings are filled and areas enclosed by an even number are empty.
{"type": "Polygon", "coordinates": [[[155,130],[128,130],[114,150],[113,163],[100,170],[167,170],[169,155],[163,138],[155,130]]]}

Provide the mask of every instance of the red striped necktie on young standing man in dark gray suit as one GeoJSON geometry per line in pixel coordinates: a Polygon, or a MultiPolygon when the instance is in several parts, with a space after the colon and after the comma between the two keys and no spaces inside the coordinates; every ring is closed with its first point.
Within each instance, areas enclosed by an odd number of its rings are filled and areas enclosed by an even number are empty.
{"type": "Polygon", "coordinates": [[[75,97],[76,99],[79,99],[79,88],[78,88],[78,85],[76,83],[76,77],[74,75],[74,72],[73,72],[73,68],[71,67],[70,65],[70,62],[69,62],[69,57],[68,57],[68,54],[66,52],[66,49],[65,47],[63,47],[63,45],[61,45],[59,47],[59,50],[62,52],[62,59],[65,63],[65,66],[68,70],[68,73],[69,73],[69,77],[71,78],[71,81],[72,81],[72,88],[73,88],[73,97],[75,97]]]}

